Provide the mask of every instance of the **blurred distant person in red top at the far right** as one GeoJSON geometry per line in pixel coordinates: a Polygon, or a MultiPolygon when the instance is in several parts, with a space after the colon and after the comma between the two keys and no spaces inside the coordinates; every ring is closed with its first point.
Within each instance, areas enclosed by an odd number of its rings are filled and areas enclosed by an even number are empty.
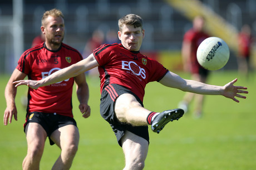
{"type": "Polygon", "coordinates": [[[248,24],[244,24],[238,35],[238,69],[242,76],[249,78],[250,57],[253,45],[253,37],[248,24]]]}

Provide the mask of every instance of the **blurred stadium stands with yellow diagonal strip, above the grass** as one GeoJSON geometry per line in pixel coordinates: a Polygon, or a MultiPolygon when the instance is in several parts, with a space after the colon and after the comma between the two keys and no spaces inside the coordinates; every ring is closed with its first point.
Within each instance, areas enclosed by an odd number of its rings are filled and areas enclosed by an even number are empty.
{"type": "Polygon", "coordinates": [[[100,29],[105,36],[110,30],[117,32],[120,17],[139,14],[146,33],[141,51],[172,70],[182,68],[183,35],[192,27],[191,19],[201,14],[211,36],[224,39],[230,47],[230,60],[224,69],[237,69],[237,33],[246,23],[255,36],[255,7],[256,0],[1,0],[0,74],[13,71],[19,56],[40,34],[43,12],[52,8],[61,9],[65,15],[64,42],[81,53],[93,31],[100,29]]]}

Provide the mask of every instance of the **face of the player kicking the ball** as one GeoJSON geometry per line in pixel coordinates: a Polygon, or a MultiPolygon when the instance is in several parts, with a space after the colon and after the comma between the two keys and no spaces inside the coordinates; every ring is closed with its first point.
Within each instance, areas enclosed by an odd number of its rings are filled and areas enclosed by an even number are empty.
{"type": "Polygon", "coordinates": [[[121,40],[122,46],[130,51],[139,51],[144,38],[144,29],[134,27],[132,25],[124,25],[122,31],[118,32],[118,37],[121,40]]]}

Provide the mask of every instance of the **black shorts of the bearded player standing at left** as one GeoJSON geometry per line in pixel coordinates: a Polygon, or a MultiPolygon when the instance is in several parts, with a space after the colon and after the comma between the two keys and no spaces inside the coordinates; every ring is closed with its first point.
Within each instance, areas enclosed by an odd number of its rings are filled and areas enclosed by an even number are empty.
{"type": "Polygon", "coordinates": [[[45,129],[47,136],[50,140],[50,144],[55,144],[50,136],[56,129],[73,124],[77,127],[75,119],[68,116],[62,116],[56,113],[43,113],[43,112],[31,112],[26,115],[26,122],[24,123],[24,132],[28,123],[38,123],[43,129],[45,129]]]}

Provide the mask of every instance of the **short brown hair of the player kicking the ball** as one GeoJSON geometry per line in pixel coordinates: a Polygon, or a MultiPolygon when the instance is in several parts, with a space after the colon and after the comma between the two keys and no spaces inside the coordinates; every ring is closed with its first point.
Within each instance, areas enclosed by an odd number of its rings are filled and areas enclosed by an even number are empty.
{"type": "Polygon", "coordinates": [[[132,25],[134,28],[141,27],[143,29],[143,19],[136,14],[127,14],[118,21],[119,31],[122,31],[124,25],[132,25]]]}

